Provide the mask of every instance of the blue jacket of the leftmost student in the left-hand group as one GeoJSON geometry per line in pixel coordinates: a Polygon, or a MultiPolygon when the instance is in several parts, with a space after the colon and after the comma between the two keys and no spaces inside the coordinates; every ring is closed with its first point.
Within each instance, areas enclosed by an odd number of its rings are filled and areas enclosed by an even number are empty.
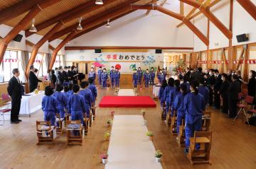
{"type": "Polygon", "coordinates": [[[45,95],[41,105],[43,112],[58,112],[58,101],[52,95],[45,95]]]}

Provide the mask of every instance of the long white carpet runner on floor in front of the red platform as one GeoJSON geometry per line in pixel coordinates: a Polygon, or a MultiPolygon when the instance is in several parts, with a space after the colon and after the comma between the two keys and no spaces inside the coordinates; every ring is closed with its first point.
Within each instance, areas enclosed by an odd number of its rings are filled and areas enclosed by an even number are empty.
{"type": "Polygon", "coordinates": [[[105,169],[161,169],[142,115],[114,115],[105,169]]]}

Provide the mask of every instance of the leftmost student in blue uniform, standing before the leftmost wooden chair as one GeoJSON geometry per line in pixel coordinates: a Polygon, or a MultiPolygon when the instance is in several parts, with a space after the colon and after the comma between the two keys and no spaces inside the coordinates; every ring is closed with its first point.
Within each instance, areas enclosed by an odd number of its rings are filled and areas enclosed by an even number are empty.
{"type": "Polygon", "coordinates": [[[53,96],[53,88],[46,86],[45,96],[42,100],[43,117],[46,122],[50,121],[50,125],[55,126],[55,114],[58,112],[58,101],[53,96]]]}

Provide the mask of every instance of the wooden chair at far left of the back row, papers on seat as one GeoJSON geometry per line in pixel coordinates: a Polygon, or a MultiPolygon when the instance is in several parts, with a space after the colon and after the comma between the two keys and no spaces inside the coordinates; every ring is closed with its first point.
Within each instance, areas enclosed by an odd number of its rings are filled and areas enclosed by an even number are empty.
{"type": "Polygon", "coordinates": [[[38,144],[53,144],[57,136],[56,127],[50,126],[50,122],[36,121],[36,134],[38,136],[38,144]]]}

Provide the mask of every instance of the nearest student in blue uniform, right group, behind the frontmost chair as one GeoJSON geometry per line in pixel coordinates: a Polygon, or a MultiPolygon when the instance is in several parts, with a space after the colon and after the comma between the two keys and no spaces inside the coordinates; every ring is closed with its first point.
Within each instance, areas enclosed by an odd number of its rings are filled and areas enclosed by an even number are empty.
{"type": "MultiPolygon", "coordinates": [[[[198,82],[191,81],[191,93],[188,93],[184,98],[184,109],[186,113],[185,119],[185,152],[188,153],[189,139],[195,131],[200,131],[202,127],[202,115],[206,109],[206,104],[203,100],[203,95],[198,93],[198,82]]],[[[198,146],[197,146],[198,147],[198,146]]]]}

